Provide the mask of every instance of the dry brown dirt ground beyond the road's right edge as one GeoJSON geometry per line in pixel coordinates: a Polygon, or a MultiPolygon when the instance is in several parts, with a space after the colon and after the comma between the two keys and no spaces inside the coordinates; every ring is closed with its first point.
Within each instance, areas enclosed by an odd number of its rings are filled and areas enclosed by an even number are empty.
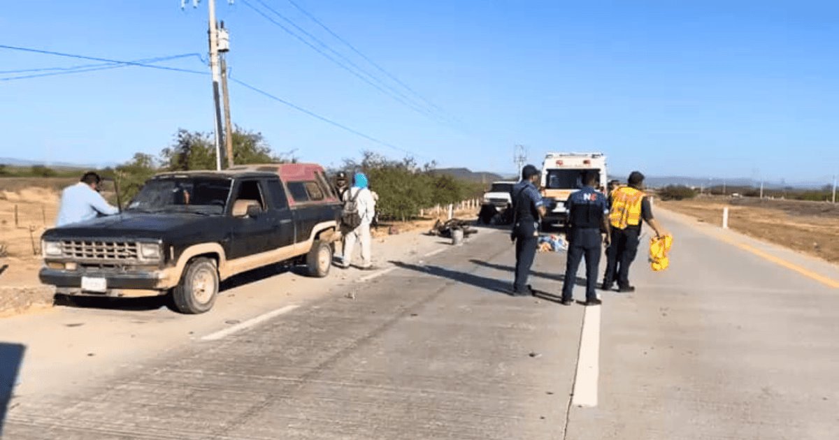
{"type": "Polygon", "coordinates": [[[722,225],[722,210],[727,207],[728,226],[732,230],[839,263],[839,206],[834,204],[697,198],[656,201],[656,205],[711,225],[722,225]]]}

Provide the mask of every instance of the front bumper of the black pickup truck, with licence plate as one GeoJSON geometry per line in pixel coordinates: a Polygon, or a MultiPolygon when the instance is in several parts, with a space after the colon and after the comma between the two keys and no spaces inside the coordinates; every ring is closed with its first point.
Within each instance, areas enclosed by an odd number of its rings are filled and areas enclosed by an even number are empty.
{"type": "Polygon", "coordinates": [[[107,283],[106,292],[92,292],[107,294],[112,290],[168,290],[170,282],[165,270],[143,272],[109,272],[109,271],[65,271],[44,267],[39,278],[44,284],[55,286],[60,290],[86,293],[81,290],[81,278],[104,278],[107,283]]]}

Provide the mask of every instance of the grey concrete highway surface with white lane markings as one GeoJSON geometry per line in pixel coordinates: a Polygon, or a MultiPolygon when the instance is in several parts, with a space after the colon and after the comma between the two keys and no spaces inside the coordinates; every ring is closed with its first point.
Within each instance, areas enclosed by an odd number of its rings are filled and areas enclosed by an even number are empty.
{"type": "MultiPolygon", "coordinates": [[[[642,254],[638,292],[605,292],[599,308],[509,297],[508,236],[483,230],[461,247],[406,242],[380,272],[301,281],[310,295],[260,298],[289,287],[278,277],[235,287],[256,298],[207,317],[82,310],[123,349],[60,360],[90,327],[44,329],[60,367],[42,349],[24,368],[4,438],[839,438],[836,267],[659,217],[670,269],[642,254]],[[119,329],[154,321],[129,338],[97,313],[119,329]]],[[[534,287],[558,293],[563,256],[537,260],[534,287]]],[[[0,334],[43,347],[31,333],[76,312],[0,334]]]]}

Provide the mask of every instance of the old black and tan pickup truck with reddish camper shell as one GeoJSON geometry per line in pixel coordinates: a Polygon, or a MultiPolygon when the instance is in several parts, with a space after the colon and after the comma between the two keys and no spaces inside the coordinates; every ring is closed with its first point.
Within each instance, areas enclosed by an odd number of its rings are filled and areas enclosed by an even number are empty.
{"type": "Polygon", "coordinates": [[[341,203],[320,165],[163,173],[119,215],[44,232],[41,282],[70,295],[170,293],[204,313],[219,282],[282,261],[326,277],[341,203]]]}

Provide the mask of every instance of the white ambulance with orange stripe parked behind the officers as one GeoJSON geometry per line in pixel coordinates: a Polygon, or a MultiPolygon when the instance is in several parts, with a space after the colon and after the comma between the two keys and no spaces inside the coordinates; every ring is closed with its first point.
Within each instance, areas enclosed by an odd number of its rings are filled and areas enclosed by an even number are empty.
{"type": "Polygon", "coordinates": [[[565,200],[582,188],[582,176],[597,171],[595,189],[605,194],[607,187],[606,155],[603,153],[547,153],[542,163],[542,197],[548,202],[544,225],[565,224],[568,213],[565,200]]]}

